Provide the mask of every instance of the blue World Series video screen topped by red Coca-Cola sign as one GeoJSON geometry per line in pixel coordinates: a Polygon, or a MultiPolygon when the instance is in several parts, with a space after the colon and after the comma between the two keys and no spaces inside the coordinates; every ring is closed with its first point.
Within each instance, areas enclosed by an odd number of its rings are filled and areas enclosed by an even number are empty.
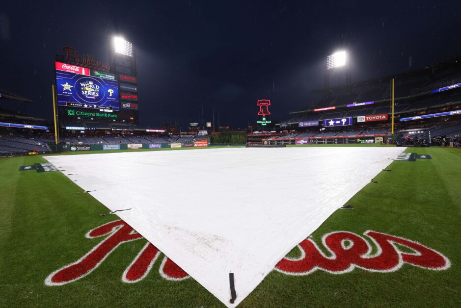
{"type": "Polygon", "coordinates": [[[119,110],[118,81],[110,73],[55,62],[59,106],[119,110]]]}

